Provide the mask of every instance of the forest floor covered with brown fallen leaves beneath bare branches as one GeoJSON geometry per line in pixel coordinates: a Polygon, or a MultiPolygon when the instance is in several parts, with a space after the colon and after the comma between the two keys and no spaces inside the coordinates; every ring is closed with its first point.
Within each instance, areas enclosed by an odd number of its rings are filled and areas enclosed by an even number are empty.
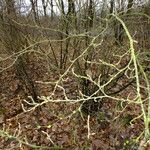
{"type": "MultiPolygon", "coordinates": [[[[28,67],[32,70],[29,74],[36,83],[38,95],[49,96],[53,86],[36,81],[56,81],[59,74],[47,72],[42,60],[31,61],[28,67]]],[[[70,99],[77,98],[76,81],[71,76],[64,81],[64,87],[70,99]]],[[[129,90],[134,89],[129,87],[120,96],[126,95],[129,90]]],[[[26,95],[28,91],[25,91],[24,85],[20,83],[15,70],[9,68],[1,73],[1,150],[38,149],[36,146],[41,146],[45,150],[137,149],[134,140],[143,131],[143,121],[139,119],[133,124],[130,121],[140,114],[138,105],[121,107],[118,102],[105,99],[98,112],[87,116],[78,111],[80,103],[48,102],[35,110],[25,112],[22,104],[26,95]]],[[[64,97],[61,89],[56,90],[54,97],[64,97]]]]}

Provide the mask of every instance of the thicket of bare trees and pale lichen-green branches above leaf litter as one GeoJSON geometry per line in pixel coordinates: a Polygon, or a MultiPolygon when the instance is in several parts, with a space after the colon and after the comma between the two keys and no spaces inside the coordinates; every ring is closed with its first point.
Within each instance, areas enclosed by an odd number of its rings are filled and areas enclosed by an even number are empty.
{"type": "MultiPolygon", "coordinates": [[[[73,105],[75,109],[65,117],[69,119],[78,115],[77,118],[86,119],[87,141],[90,141],[91,118],[97,117],[100,122],[107,120],[106,124],[111,125],[127,113],[126,108],[132,106],[140,111],[132,116],[127,114],[123,123],[134,129],[134,124],[140,120],[141,133],[134,142],[139,144],[139,149],[148,148],[150,2],[139,5],[134,0],[120,3],[113,0],[102,3],[94,0],[42,0],[42,12],[38,1],[30,0],[30,11],[23,5],[24,1],[21,2],[5,0],[0,3],[0,75],[10,69],[16,73],[19,82],[12,95],[21,97],[21,114],[35,111],[41,129],[38,116],[43,107],[54,103],[62,103],[63,107],[73,105]],[[42,78],[34,77],[32,61],[35,66],[43,64],[39,69],[42,78]],[[45,79],[47,75],[58,78],[45,79]],[[65,82],[70,82],[67,88],[73,88],[72,93],[68,94],[65,82]],[[40,87],[47,85],[51,87],[51,92],[43,95],[40,87]],[[106,109],[104,113],[102,108],[109,101],[115,106],[117,115],[112,113],[109,117],[105,116],[111,110],[106,109]]],[[[60,116],[59,112],[57,114],[60,116]]],[[[37,143],[30,144],[28,139],[21,136],[20,125],[14,134],[9,133],[5,121],[1,126],[0,135],[16,140],[20,148],[22,145],[49,148],[38,146],[37,143]]],[[[45,128],[51,127],[45,125],[45,128]]],[[[42,132],[52,146],[57,146],[48,132],[42,132]]],[[[136,145],[134,142],[131,145],[136,145]]]]}

